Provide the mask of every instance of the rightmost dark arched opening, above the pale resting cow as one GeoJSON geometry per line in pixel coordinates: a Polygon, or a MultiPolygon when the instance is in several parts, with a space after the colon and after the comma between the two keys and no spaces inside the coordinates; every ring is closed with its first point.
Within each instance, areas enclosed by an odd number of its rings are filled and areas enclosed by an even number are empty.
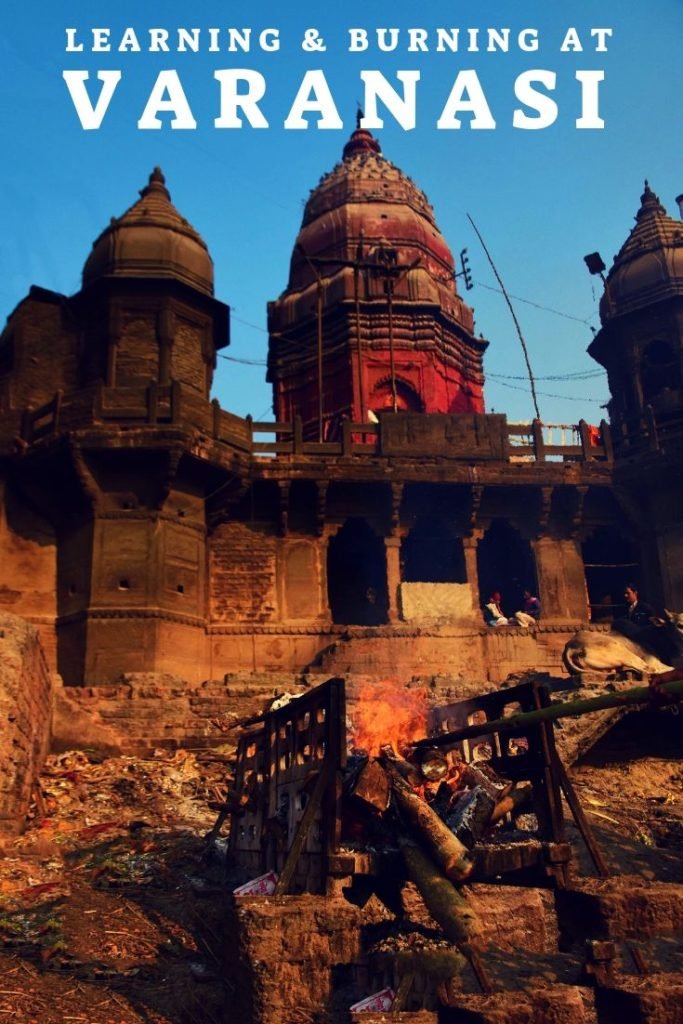
{"type": "Polygon", "coordinates": [[[596,526],[583,544],[586,590],[593,622],[608,622],[624,608],[624,588],[640,580],[637,545],[618,526],[596,526]]]}

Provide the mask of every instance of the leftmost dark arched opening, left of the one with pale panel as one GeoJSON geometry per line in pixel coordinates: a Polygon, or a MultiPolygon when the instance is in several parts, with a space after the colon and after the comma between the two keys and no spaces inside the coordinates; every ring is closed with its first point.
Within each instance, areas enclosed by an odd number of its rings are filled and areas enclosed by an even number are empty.
{"type": "Polygon", "coordinates": [[[384,542],[365,519],[347,519],[330,541],[328,599],[335,623],[381,626],[387,621],[384,542]]]}

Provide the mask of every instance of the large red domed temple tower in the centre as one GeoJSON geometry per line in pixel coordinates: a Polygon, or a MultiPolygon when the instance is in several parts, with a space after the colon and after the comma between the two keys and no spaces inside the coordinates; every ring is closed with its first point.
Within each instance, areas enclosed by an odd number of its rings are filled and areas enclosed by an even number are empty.
{"type": "Polygon", "coordinates": [[[382,411],[483,411],[483,339],[431,206],[361,128],[311,193],[268,306],[276,419],[309,437],[382,411]]]}

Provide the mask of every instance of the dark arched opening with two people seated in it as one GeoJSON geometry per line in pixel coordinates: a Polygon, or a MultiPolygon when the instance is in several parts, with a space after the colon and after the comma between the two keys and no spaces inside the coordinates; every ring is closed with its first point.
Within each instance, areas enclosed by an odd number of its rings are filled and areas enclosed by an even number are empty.
{"type": "Polygon", "coordinates": [[[536,591],[536,561],[531,546],[507,519],[494,519],[477,546],[479,599],[485,604],[494,591],[500,591],[501,605],[507,615],[521,607],[522,593],[536,591]]]}

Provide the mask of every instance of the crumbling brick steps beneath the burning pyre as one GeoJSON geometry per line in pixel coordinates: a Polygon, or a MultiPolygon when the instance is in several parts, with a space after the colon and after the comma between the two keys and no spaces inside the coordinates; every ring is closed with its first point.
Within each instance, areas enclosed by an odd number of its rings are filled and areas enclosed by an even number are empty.
{"type": "MultiPolygon", "coordinates": [[[[683,886],[640,877],[574,879],[564,890],[467,887],[483,925],[481,962],[493,991],[469,967],[437,989],[416,974],[399,1013],[350,1015],[348,1007],[386,986],[372,943],[391,914],[371,898],[364,910],[336,896],[231,901],[236,947],[228,970],[253,1024],[681,1024],[683,886]],[[639,967],[640,966],[640,970],[639,967]],[[645,971],[646,973],[640,973],[645,971]],[[443,999],[447,1005],[438,1005],[443,999]],[[437,1006],[438,1005],[438,1006],[437,1006]]],[[[403,890],[402,927],[430,924],[419,896],[403,890]]],[[[433,925],[433,923],[432,923],[433,925]]],[[[400,969],[405,970],[404,964],[400,969]]]]}

